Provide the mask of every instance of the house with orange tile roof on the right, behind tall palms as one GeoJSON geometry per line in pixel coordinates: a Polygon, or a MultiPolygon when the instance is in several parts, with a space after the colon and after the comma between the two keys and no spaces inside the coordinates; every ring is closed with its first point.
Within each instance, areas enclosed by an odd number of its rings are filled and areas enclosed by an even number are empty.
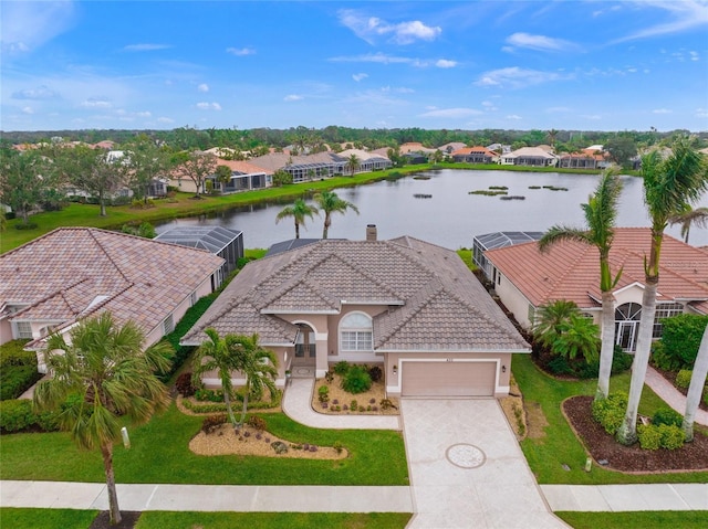
{"type": "MultiPolygon", "coordinates": [[[[476,239],[481,239],[479,236],[476,239]]],[[[622,268],[614,288],[615,341],[636,349],[644,292],[644,262],[649,254],[648,228],[617,228],[610,254],[613,273],[622,268]]],[[[600,257],[595,246],[561,242],[540,253],[535,242],[485,252],[485,272],[496,294],[519,321],[530,329],[538,308],[566,299],[601,319],[600,257]]],[[[662,319],[683,313],[708,314],[708,252],[664,235],[653,336],[662,336],[662,319]]]]}

